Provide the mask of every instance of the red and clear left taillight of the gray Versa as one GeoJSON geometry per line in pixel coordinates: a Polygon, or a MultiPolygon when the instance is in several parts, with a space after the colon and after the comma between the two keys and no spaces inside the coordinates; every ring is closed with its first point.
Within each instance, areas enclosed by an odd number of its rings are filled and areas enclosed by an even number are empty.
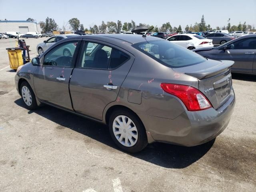
{"type": "Polygon", "coordinates": [[[161,83],[161,87],[165,92],[182,100],[188,111],[200,111],[212,107],[204,94],[194,87],[170,83],[161,83]]]}

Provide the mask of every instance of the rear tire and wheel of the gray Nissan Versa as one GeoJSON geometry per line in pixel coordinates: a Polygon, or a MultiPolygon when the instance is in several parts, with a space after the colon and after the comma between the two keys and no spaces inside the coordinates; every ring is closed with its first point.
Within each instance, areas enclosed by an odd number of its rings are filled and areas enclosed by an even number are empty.
{"type": "Polygon", "coordinates": [[[148,144],[146,130],[142,122],[129,110],[115,110],[110,116],[108,127],[112,140],[123,151],[136,153],[144,149],[148,144]],[[129,125],[126,124],[128,121],[130,122],[129,125]],[[126,122],[124,126],[122,126],[123,122],[126,122]],[[117,128],[117,126],[119,128],[117,128]],[[129,129],[132,129],[132,131],[128,131],[128,127],[130,126],[132,126],[132,128],[129,129]],[[123,128],[121,129],[121,127],[123,128]],[[118,134],[119,132],[120,134],[118,134]],[[118,139],[120,139],[120,141],[118,141],[118,139]]]}

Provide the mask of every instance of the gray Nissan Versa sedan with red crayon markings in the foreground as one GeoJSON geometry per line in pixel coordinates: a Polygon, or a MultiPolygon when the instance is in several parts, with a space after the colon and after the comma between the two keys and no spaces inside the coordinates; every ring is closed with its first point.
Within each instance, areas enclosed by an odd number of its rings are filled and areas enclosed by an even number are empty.
{"type": "Polygon", "coordinates": [[[116,145],[138,152],[216,138],[234,110],[233,63],[151,36],[74,36],[20,66],[15,83],[28,109],[48,104],[102,122],[116,145]]]}

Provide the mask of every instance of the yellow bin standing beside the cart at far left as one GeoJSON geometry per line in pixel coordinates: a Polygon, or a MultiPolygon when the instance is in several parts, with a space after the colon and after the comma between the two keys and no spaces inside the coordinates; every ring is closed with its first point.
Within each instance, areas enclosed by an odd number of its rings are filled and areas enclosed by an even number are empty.
{"type": "Polygon", "coordinates": [[[7,48],[6,50],[9,56],[10,68],[16,70],[23,65],[22,50],[20,48],[7,48]]]}

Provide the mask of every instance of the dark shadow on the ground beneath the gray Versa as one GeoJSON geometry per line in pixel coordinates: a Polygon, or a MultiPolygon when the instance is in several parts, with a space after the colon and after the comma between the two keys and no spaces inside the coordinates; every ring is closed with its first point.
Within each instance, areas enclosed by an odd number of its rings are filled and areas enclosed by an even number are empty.
{"type": "MultiPolygon", "coordinates": [[[[25,108],[22,98],[16,100],[15,103],[25,108]]],[[[104,124],[47,105],[28,112],[28,114],[31,113],[36,113],[60,126],[64,126],[120,150],[112,141],[108,127],[104,124]]],[[[149,144],[141,152],[130,155],[165,168],[185,168],[204,156],[204,154],[210,150],[214,141],[215,140],[212,140],[206,144],[195,147],[153,143],[149,144]]]]}

